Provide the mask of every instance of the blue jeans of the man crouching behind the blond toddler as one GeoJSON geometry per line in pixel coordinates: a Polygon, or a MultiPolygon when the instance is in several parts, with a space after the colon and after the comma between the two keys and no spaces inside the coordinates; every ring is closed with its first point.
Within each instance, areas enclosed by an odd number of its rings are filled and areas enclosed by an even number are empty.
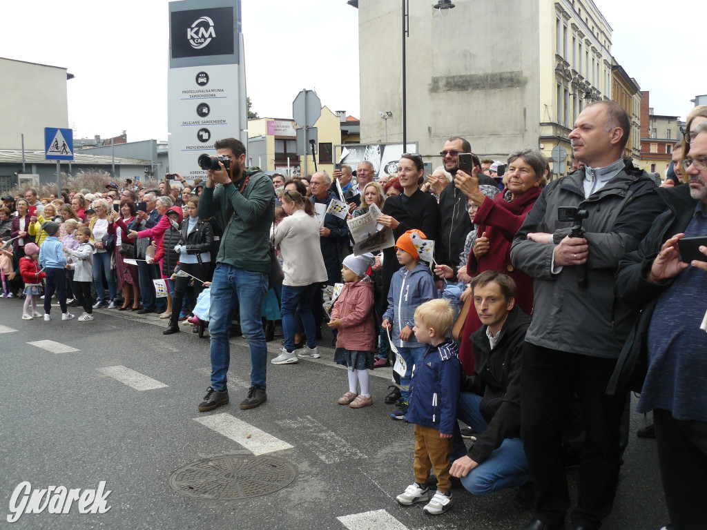
{"type": "MultiPolygon", "coordinates": [[[[471,392],[461,392],[457,401],[457,418],[477,432],[489,428],[479,411],[481,396],[471,392]]],[[[467,454],[459,425],[454,428],[452,461],[467,454]]],[[[506,488],[517,488],[530,481],[530,469],[525,458],[523,442],[520,438],[506,438],[482,464],[461,478],[462,485],[474,495],[486,495],[506,488]]]]}

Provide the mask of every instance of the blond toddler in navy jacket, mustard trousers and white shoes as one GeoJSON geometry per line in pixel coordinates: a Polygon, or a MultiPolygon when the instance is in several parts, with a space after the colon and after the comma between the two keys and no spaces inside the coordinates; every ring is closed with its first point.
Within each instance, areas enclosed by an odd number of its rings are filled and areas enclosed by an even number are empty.
{"type": "Polygon", "coordinates": [[[415,483],[397,496],[397,502],[409,506],[429,500],[423,511],[437,515],[452,507],[450,454],[461,365],[455,342],[445,338],[453,319],[448,300],[422,304],[414,319],[417,340],[428,346],[421,363],[415,366],[407,411],[407,420],[415,424],[415,483]],[[430,468],[437,476],[434,495],[426,485],[430,468]]]}

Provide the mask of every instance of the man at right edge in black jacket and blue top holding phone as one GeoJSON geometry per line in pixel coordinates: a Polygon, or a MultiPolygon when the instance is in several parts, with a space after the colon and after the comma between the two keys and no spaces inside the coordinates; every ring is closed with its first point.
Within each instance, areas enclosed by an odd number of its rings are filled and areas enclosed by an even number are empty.
{"type": "MultiPolygon", "coordinates": [[[[707,263],[686,262],[679,248],[683,237],[707,235],[707,122],[695,131],[683,167],[689,184],[660,190],[668,209],[638,250],[621,260],[616,282],[619,298],[642,311],[613,379],[617,393],[626,384],[640,389],[638,412],[653,411],[660,476],[676,530],[703,529],[707,521],[707,263]],[[631,385],[625,376],[646,358],[645,381],[631,385]]],[[[704,245],[698,248],[707,254],[704,245]]]]}

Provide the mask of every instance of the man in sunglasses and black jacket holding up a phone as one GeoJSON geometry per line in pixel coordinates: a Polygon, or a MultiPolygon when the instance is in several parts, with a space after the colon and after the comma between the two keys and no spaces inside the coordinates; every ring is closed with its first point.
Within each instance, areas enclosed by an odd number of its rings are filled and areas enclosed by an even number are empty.
{"type": "MultiPolygon", "coordinates": [[[[445,142],[440,156],[445,170],[452,174],[452,178],[457,175],[459,170],[459,155],[460,153],[471,153],[472,146],[463,138],[454,136],[445,142]]],[[[474,165],[481,163],[476,155],[474,155],[474,165]]],[[[490,184],[493,187],[498,187],[496,181],[491,177],[482,175],[481,172],[477,175],[479,184],[490,184]]],[[[467,204],[467,196],[464,195],[455,186],[445,186],[445,189],[440,193],[439,212],[440,212],[440,228],[438,230],[439,237],[435,241],[435,259],[440,265],[448,265],[457,276],[459,269],[459,255],[464,249],[464,241],[467,239],[467,234],[471,232],[473,225],[469,219],[469,213],[464,205],[467,204]]],[[[443,281],[438,281],[437,288],[443,289],[443,281]]]]}

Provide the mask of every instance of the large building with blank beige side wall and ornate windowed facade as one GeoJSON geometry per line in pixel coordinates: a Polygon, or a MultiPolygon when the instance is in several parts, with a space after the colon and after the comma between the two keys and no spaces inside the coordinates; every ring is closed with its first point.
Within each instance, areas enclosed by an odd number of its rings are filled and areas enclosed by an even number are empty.
{"type": "MultiPolygon", "coordinates": [[[[408,141],[433,163],[450,136],[488,158],[527,146],[570,153],[575,117],[611,96],[612,28],[595,4],[455,0],[443,15],[430,2],[410,3],[408,141]]],[[[388,110],[388,141],[402,141],[401,25],[399,4],[358,1],[363,143],[382,141],[378,112],[388,110]]]]}

